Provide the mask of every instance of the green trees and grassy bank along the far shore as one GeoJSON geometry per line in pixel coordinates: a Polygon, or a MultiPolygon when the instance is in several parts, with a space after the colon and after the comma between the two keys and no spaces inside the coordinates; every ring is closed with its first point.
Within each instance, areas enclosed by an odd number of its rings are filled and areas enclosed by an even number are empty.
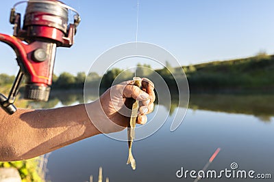
{"type": "MultiPolygon", "coordinates": [[[[274,90],[274,56],[258,53],[255,57],[235,59],[229,61],[213,61],[183,67],[171,67],[169,62],[159,70],[152,70],[150,65],[138,64],[135,72],[112,68],[103,76],[96,72],[86,75],[79,72],[77,75],[63,72],[59,76],[53,75],[53,89],[82,89],[86,80],[86,87],[107,89],[112,84],[123,80],[130,80],[134,75],[147,77],[158,84],[160,76],[166,85],[176,91],[174,78],[182,78],[182,70],[186,74],[190,91],[242,91],[242,90],[274,90]],[[181,74],[181,75],[179,75],[181,74]]],[[[9,85],[14,76],[0,74],[0,85],[9,85]]]]}

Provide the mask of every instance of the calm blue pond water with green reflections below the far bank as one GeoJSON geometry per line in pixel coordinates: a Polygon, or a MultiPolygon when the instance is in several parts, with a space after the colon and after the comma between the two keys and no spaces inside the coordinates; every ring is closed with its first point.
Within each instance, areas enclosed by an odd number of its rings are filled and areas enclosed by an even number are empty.
{"type": "MultiPolygon", "coordinates": [[[[82,102],[81,94],[62,94],[47,106],[59,107],[82,102]]],[[[47,178],[53,182],[97,181],[99,167],[103,180],[110,181],[194,181],[178,178],[177,170],[203,168],[217,148],[220,153],[209,170],[254,170],[270,174],[272,179],[201,179],[201,181],[273,181],[274,178],[274,95],[190,95],[190,105],[183,123],[170,132],[174,113],[152,136],[134,142],[137,168],[127,162],[127,142],[99,135],[53,151],[47,164],[47,178]]],[[[159,115],[166,115],[165,106],[155,105],[159,115]]],[[[173,108],[183,112],[184,108],[173,108]]],[[[219,174],[219,173],[218,173],[219,174]]]]}

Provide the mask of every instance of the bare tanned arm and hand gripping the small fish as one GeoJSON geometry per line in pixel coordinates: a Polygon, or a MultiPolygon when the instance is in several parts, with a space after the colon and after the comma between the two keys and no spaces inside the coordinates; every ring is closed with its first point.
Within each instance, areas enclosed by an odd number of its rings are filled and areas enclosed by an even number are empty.
{"type": "Polygon", "coordinates": [[[132,82],[123,82],[112,87],[119,97],[114,101],[110,97],[110,89],[101,95],[99,100],[89,104],[79,104],[47,110],[18,109],[14,115],[8,115],[0,109],[0,161],[25,160],[48,153],[73,142],[90,136],[101,134],[101,130],[93,125],[93,121],[103,124],[107,132],[119,132],[106,120],[111,120],[123,128],[127,118],[116,112],[113,104],[125,102],[127,97],[142,101],[139,124],[147,122],[147,114],[153,110],[155,95],[153,83],[143,78],[143,91],[136,89],[132,82]],[[120,94],[121,93],[121,94],[120,94]],[[140,97],[143,95],[143,97],[140,97]],[[145,97],[144,97],[145,95],[145,97]],[[146,110],[147,112],[142,112],[146,110]],[[88,117],[86,109],[95,112],[88,117]]]}

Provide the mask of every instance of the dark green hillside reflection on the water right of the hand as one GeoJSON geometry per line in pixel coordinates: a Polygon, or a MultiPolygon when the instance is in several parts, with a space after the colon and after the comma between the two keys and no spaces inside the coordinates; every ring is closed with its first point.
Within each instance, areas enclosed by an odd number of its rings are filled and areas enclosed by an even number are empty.
{"type": "Polygon", "coordinates": [[[189,108],[253,115],[269,122],[274,115],[274,95],[191,95],[189,108]]]}

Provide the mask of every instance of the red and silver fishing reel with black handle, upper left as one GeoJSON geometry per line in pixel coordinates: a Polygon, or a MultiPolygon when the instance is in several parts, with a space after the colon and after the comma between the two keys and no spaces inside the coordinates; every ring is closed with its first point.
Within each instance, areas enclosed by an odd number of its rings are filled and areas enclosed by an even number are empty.
{"type": "Polygon", "coordinates": [[[47,101],[52,84],[53,65],[56,47],[71,47],[77,26],[80,22],[76,10],[57,0],[20,1],[10,13],[10,23],[14,25],[13,35],[0,33],[0,41],[5,42],[16,52],[20,70],[14,80],[10,95],[0,94],[1,107],[12,115],[13,105],[19,85],[25,76],[27,100],[47,101]],[[21,14],[15,7],[27,3],[23,27],[21,14]],[[69,11],[75,12],[73,23],[69,24],[69,11]],[[69,24],[69,25],[68,25],[69,24]]]}

